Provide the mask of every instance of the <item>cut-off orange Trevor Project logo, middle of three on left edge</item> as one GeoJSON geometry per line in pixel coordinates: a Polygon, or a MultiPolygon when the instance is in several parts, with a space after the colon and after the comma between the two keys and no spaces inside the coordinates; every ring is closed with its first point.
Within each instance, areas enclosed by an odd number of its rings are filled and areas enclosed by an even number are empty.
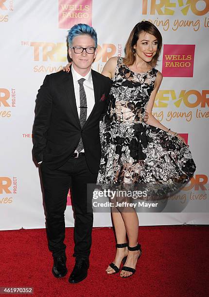
{"type": "Polygon", "coordinates": [[[16,107],[16,91],[0,88],[0,117],[10,117],[11,108],[16,107]]]}

